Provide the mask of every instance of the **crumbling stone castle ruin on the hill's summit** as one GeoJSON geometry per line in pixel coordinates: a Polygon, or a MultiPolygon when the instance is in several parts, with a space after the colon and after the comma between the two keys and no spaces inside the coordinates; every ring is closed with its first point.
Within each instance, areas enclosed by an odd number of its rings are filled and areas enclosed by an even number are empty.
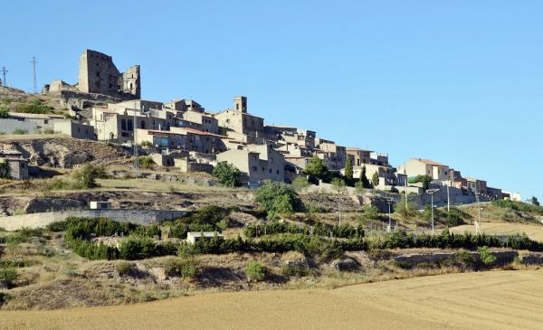
{"type": "Polygon", "coordinates": [[[62,80],[52,80],[43,86],[43,92],[72,91],[106,95],[115,99],[140,99],[141,80],[139,65],[120,72],[110,55],[85,50],[79,63],[79,82],[70,85],[62,80]]]}

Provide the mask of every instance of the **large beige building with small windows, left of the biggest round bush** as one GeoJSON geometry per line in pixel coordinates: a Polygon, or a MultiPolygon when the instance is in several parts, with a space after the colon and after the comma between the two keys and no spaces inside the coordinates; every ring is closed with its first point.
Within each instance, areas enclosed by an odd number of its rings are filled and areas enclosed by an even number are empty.
{"type": "Polygon", "coordinates": [[[247,145],[217,155],[217,162],[236,166],[243,174],[242,182],[250,186],[264,180],[284,181],[284,157],[270,145],[247,145]]]}

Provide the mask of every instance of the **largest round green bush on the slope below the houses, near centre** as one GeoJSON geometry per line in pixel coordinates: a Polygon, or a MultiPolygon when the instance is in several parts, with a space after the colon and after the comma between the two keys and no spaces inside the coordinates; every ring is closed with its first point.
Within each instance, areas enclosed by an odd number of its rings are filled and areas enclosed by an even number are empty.
{"type": "Polygon", "coordinates": [[[268,212],[271,219],[281,215],[291,215],[300,208],[298,193],[290,186],[280,182],[266,182],[256,192],[255,201],[268,212]]]}

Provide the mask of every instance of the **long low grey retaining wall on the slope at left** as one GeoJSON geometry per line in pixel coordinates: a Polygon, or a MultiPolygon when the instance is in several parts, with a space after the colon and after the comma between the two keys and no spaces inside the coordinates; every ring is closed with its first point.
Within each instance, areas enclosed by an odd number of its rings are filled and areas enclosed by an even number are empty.
{"type": "Polygon", "coordinates": [[[16,231],[23,227],[41,228],[52,222],[61,222],[68,217],[110,218],[116,222],[150,224],[172,221],[186,215],[186,211],[160,210],[79,210],[66,212],[43,212],[10,217],[0,217],[0,228],[16,231]]]}

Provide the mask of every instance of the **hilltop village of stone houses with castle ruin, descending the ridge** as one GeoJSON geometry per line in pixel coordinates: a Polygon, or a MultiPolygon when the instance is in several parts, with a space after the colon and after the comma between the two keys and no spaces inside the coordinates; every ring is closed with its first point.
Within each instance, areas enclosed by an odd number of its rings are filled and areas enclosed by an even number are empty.
{"type": "MultiPolygon", "coordinates": [[[[3,88],[4,90],[13,90],[3,88]]],[[[412,158],[397,167],[386,153],[357,146],[340,146],[309,129],[266,125],[252,113],[245,96],[233,98],[232,108],[207,111],[193,99],[168,102],[141,99],[138,65],[121,72],[111,56],[90,50],[81,53],[79,81],[53,80],[43,87],[43,96],[58,99],[55,107],[64,114],[16,112],[9,109],[0,132],[12,134],[55,132],[69,137],[137,146],[157,165],[175,166],[182,172],[212,173],[226,162],[237,167],[244,186],[258,187],[265,180],[290,183],[304,174],[311,159],[318,157],[330,173],[339,176],[352,169],[352,179],[367,182],[376,192],[411,193],[421,204],[461,204],[477,200],[520,200],[517,193],[502,191],[481,178],[429,159],[412,158]]],[[[54,107],[53,107],[54,108],[54,107]]],[[[24,158],[13,150],[0,157],[14,179],[25,179],[24,158]]],[[[350,174],[348,174],[350,175],[350,174]]],[[[325,182],[312,184],[326,187],[325,182]]]]}

